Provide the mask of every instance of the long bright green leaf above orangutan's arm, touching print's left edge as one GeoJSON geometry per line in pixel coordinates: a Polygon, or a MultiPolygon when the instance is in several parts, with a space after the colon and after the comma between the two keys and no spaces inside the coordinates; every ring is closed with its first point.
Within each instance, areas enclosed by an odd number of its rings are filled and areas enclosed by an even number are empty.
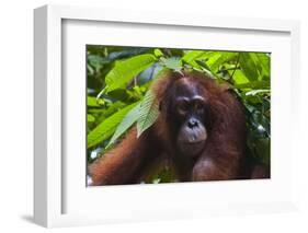
{"type": "Polygon", "coordinates": [[[137,103],[134,103],[116,112],[90,131],[88,135],[88,148],[96,145],[109,139],[114,133],[117,125],[123,120],[126,114],[136,105],[137,103]]]}

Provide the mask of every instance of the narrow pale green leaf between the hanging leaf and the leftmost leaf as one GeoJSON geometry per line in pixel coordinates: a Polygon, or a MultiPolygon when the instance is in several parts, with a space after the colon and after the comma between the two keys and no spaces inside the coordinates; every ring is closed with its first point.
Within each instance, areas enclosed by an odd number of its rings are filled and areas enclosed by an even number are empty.
{"type": "Polygon", "coordinates": [[[139,110],[140,110],[140,104],[138,104],[137,106],[135,106],[133,109],[129,110],[129,113],[123,118],[121,124],[117,126],[106,148],[112,145],[127,129],[130,128],[130,126],[134,125],[134,123],[137,121],[137,119],[139,118],[139,110]]]}

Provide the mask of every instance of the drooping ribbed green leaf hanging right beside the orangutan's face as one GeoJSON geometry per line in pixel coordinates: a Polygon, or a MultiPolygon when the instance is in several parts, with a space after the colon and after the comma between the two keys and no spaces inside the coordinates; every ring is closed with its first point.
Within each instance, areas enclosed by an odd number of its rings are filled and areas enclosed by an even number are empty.
{"type": "Polygon", "coordinates": [[[137,120],[137,137],[151,127],[158,116],[159,109],[157,103],[155,103],[155,94],[149,90],[140,103],[140,116],[137,120]]]}

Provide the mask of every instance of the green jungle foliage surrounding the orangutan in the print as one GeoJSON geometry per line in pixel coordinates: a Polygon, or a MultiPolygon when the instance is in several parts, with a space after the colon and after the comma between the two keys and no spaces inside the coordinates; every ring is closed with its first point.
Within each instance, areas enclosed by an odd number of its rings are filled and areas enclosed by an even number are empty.
{"type": "MultiPolygon", "coordinates": [[[[138,136],[159,112],[149,86],[166,70],[197,70],[227,82],[244,106],[251,159],[270,163],[271,55],[266,53],[87,46],[88,162],[113,148],[134,125],[138,136]]],[[[158,171],[150,183],[169,182],[158,171]]]]}

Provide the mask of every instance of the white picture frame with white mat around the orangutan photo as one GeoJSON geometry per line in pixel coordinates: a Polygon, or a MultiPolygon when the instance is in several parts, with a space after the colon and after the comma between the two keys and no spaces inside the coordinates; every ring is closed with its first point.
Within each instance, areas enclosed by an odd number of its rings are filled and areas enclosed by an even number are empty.
{"type": "MultiPolygon", "coordinates": [[[[176,13],[126,12],[111,9],[59,5],[46,5],[35,9],[34,16],[34,220],[36,223],[50,228],[107,222],[201,218],[217,214],[263,213],[297,209],[297,182],[296,175],[293,172],[296,171],[296,145],[299,143],[296,133],[297,123],[295,120],[299,113],[299,106],[295,100],[299,93],[295,91],[294,84],[295,82],[299,83],[298,22],[189,14],[183,18],[176,13]],[[100,26],[106,23],[107,28],[100,26]],[[118,31],[112,32],[111,28],[116,28],[118,25],[118,31]],[[80,97],[82,101],[82,93],[84,91],[84,86],[82,86],[84,80],[82,79],[85,79],[85,77],[84,72],[82,73],[81,71],[85,66],[81,70],[79,70],[81,66],[78,66],[82,65],[84,60],[78,60],[73,57],[78,57],[76,54],[82,55],[78,54],[78,49],[88,40],[92,43],[100,42],[101,35],[99,30],[96,31],[95,28],[101,28],[102,32],[110,30],[111,34],[114,35],[111,35],[110,40],[104,42],[111,44],[118,32],[129,33],[133,30],[136,33],[137,31],[144,32],[151,27],[155,27],[156,32],[164,28],[162,30],[162,37],[168,33],[166,27],[174,31],[174,36],[181,35],[181,33],[183,35],[183,32],[190,32],[193,39],[183,36],[182,40],[173,38],[164,44],[163,39],[159,38],[152,40],[150,38],[142,38],[138,40],[135,38],[128,39],[124,36],[116,40],[115,45],[126,43],[126,45],[132,46],[149,46],[147,43],[150,43],[151,46],[161,47],[190,46],[203,48],[201,47],[202,44],[198,44],[202,42],[198,42],[197,38],[201,32],[207,31],[213,34],[228,35],[230,40],[229,44],[225,44],[225,37],[217,42],[209,39],[208,45],[210,49],[241,48],[242,50],[250,50],[254,48],[256,50],[274,51],[275,56],[272,59],[275,59],[274,62],[276,63],[273,66],[273,75],[283,77],[283,81],[272,83],[273,92],[276,94],[273,96],[273,108],[275,108],[273,110],[275,110],[275,115],[272,120],[276,121],[274,124],[276,126],[273,127],[277,136],[277,139],[273,140],[274,149],[272,153],[274,158],[278,153],[283,155],[278,162],[273,164],[272,161],[274,177],[271,180],[224,182],[224,185],[217,185],[216,183],[206,184],[206,186],[204,183],[191,183],[176,184],[176,187],[174,185],[98,187],[85,190],[85,182],[80,182],[83,175],[85,179],[85,168],[82,172],[80,171],[80,167],[84,165],[82,153],[85,149],[82,147],[85,143],[78,143],[78,147],[69,149],[69,155],[64,158],[64,151],[67,152],[65,148],[69,148],[69,144],[76,141],[82,142],[85,135],[81,133],[81,137],[73,138],[75,135],[79,135],[75,132],[67,138],[64,137],[64,128],[66,124],[70,124],[68,120],[64,120],[66,118],[62,107],[64,101],[71,98],[71,96],[80,97]],[[256,37],[262,42],[262,45],[258,45],[256,39],[253,38],[256,34],[260,35],[256,37]],[[269,35],[269,37],[263,38],[263,34],[265,36],[269,35]],[[237,43],[238,36],[242,36],[241,43],[237,43]],[[72,40],[72,37],[76,39],[72,40]],[[125,38],[126,42],[124,42],[125,38]],[[147,39],[150,39],[150,42],[147,39]],[[192,40],[195,40],[195,44],[184,44],[192,40]],[[73,56],[70,54],[72,50],[76,53],[73,56]],[[70,63],[70,61],[75,63],[70,63]],[[281,69],[277,69],[278,65],[282,66],[281,69]],[[76,72],[73,75],[76,74],[77,79],[76,83],[80,83],[80,85],[76,84],[75,90],[77,92],[70,95],[67,94],[68,90],[64,84],[64,78],[72,75],[71,72],[73,71],[70,69],[72,66],[76,68],[73,69],[76,72]],[[285,109],[281,109],[277,106],[278,100],[282,98],[285,109]],[[295,123],[290,123],[290,115],[295,123]],[[282,125],[288,125],[285,130],[292,135],[293,143],[283,143],[286,139],[278,133],[278,128],[282,125]],[[278,143],[282,143],[281,148],[278,143]],[[78,155],[81,153],[81,155],[71,158],[72,153],[78,155]],[[76,161],[76,164],[71,165],[72,159],[76,161]],[[293,165],[289,164],[289,161],[293,162],[293,165]],[[84,186],[80,185],[82,183],[84,183],[84,186]],[[136,190],[138,190],[138,194],[136,194],[136,190]],[[250,198],[238,195],[240,191],[244,193],[248,190],[255,190],[250,198]],[[266,191],[262,193],[260,190],[266,191]],[[221,201],[221,194],[226,194],[226,191],[229,193],[229,198],[221,201]],[[149,197],[149,200],[152,200],[153,195],[156,195],[158,200],[148,203],[147,197],[149,197]],[[101,200],[98,202],[100,197],[107,201],[101,200]],[[184,200],[183,197],[187,197],[190,200],[184,200]],[[132,199],[127,201],[126,198],[132,199]],[[168,201],[163,202],[164,200],[168,201]],[[102,207],[104,211],[95,211],[95,209],[99,210],[102,207]]],[[[150,32],[148,35],[150,35],[150,32]]],[[[106,37],[105,34],[104,37],[106,37]]],[[[69,113],[76,113],[76,116],[80,116],[76,117],[76,119],[82,121],[82,113],[73,110],[71,107],[68,109],[69,113]]],[[[75,121],[73,124],[76,125],[75,121]]]]}

